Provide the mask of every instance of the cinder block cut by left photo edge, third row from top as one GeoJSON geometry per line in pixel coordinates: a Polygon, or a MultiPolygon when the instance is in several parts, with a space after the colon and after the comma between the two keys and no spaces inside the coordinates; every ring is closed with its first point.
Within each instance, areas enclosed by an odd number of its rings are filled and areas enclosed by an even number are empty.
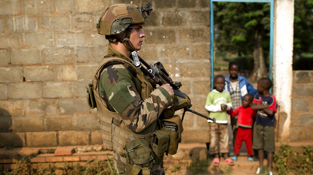
{"type": "Polygon", "coordinates": [[[18,33],[0,35],[0,48],[17,49],[20,47],[20,37],[18,33]]]}

